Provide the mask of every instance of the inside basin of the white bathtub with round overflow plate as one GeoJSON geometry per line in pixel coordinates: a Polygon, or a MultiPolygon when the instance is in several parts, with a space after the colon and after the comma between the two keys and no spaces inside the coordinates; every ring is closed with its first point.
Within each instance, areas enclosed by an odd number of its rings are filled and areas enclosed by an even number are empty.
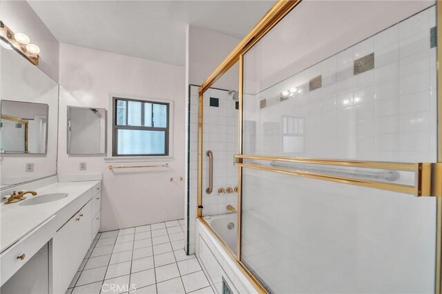
{"type": "Polygon", "coordinates": [[[233,253],[236,253],[236,240],[238,239],[238,215],[236,212],[204,216],[204,220],[226,242],[233,253]]]}

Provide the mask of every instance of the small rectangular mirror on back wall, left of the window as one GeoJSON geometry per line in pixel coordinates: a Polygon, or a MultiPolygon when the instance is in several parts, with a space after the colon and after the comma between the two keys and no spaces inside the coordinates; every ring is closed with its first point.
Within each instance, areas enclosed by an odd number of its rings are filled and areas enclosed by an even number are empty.
{"type": "Polygon", "coordinates": [[[68,106],[68,154],[106,154],[106,109],[68,106]]]}

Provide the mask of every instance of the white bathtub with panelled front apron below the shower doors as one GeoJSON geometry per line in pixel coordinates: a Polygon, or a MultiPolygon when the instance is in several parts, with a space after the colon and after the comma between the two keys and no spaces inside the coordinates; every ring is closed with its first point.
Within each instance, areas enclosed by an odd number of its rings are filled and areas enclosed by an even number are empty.
{"type": "Polygon", "coordinates": [[[196,220],[195,254],[215,293],[228,293],[227,289],[233,294],[258,293],[257,288],[213,233],[215,231],[236,252],[237,217],[236,213],[224,213],[196,220]],[[233,223],[235,228],[229,229],[229,223],[233,223]]]}

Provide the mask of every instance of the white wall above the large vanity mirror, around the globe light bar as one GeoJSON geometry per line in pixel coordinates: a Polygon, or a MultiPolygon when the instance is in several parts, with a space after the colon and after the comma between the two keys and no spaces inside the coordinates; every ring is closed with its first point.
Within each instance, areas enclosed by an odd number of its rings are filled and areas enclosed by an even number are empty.
{"type": "Polygon", "coordinates": [[[39,46],[39,68],[58,81],[59,41],[41,21],[26,1],[0,1],[0,19],[12,31],[29,36],[31,43],[39,46]]]}

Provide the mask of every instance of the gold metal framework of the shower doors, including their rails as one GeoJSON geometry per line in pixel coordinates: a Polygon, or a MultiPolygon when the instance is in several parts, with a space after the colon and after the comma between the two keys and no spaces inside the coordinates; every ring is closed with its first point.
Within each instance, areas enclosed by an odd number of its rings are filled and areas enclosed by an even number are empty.
{"type": "MultiPolygon", "coordinates": [[[[215,235],[215,237],[224,246],[227,252],[231,255],[233,260],[236,260],[238,266],[242,272],[249,277],[249,280],[256,287],[256,290],[260,293],[266,293],[265,289],[260,285],[260,282],[251,275],[249,269],[241,262],[241,207],[242,207],[242,168],[250,167],[244,165],[243,158],[247,158],[242,154],[242,109],[243,109],[243,56],[253,47],[253,45],[262,39],[263,36],[269,30],[273,28],[282,18],[284,18],[293,8],[295,8],[302,0],[279,0],[272,8],[265,14],[264,17],[256,24],[256,26],[244,36],[244,39],[232,50],[220,65],[212,72],[212,74],[206,78],[206,81],[200,86],[199,93],[199,111],[198,111],[198,211],[197,216],[202,221],[205,227],[209,229],[215,235]],[[203,94],[208,90],[215,81],[218,80],[227,70],[229,70],[236,62],[239,61],[239,107],[238,107],[238,156],[236,156],[235,165],[238,166],[238,248],[237,253],[233,253],[229,246],[220,238],[210,225],[202,218],[202,156],[203,156],[203,94]]],[[[442,28],[442,0],[437,2],[437,27],[442,28]]],[[[437,30],[437,84],[438,90],[442,89],[442,73],[439,70],[439,59],[442,58],[442,30],[437,30]]],[[[382,168],[382,169],[398,169],[405,171],[416,172],[416,185],[406,187],[405,185],[392,185],[383,182],[369,182],[355,179],[336,178],[333,179],[336,182],[351,183],[353,185],[361,185],[365,187],[374,187],[378,189],[387,189],[390,191],[398,191],[402,193],[413,193],[414,195],[432,195],[437,197],[437,232],[436,232],[436,284],[435,293],[442,294],[442,91],[438,91],[438,162],[437,163],[410,163],[401,164],[395,162],[357,162],[350,160],[327,160],[327,165],[340,165],[347,167],[367,167],[367,168],[382,168]],[[405,187],[400,187],[405,186],[405,187]]],[[[249,159],[252,159],[249,156],[249,159]]],[[[254,158],[258,159],[258,158],[254,158]]],[[[274,156],[265,156],[265,158],[259,158],[262,160],[275,160],[274,156]],[[272,159],[271,159],[272,158],[272,159]]],[[[293,159],[293,158],[292,158],[293,159]]],[[[296,160],[299,160],[297,158],[296,160]]],[[[319,163],[319,159],[303,158],[303,160],[310,160],[310,162],[302,161],[302,163],[319,163]],[[316,162],[313,162],[316,161],[316,162]]],[[[301,161],[296,161],[301,162],[301,161]]],[[[253,168],[253,167],[251,167],[253,168]]],[[[268,167],[259,167],[261,170],[268,169],[268,167]]],[[[273,169],[273,168],[272,168],[273,169]]],[[[276,170],[272,170],[276,171],[276,170]]],[[[295,174],[300,176],[299,171],[277,171],[289,174],[295,174]]],[[[302,176],[307,176],[302,174],[302,176]]],[[[309,175],[312,177],[313,175],[309,175]]],[[[329,177],[329,176],[328,176],[329,177]]],[[[324,179],[324,178],[322,178],[324,179]]],[[[332,180],[332,179],[327,179],[332,180]]]]}

